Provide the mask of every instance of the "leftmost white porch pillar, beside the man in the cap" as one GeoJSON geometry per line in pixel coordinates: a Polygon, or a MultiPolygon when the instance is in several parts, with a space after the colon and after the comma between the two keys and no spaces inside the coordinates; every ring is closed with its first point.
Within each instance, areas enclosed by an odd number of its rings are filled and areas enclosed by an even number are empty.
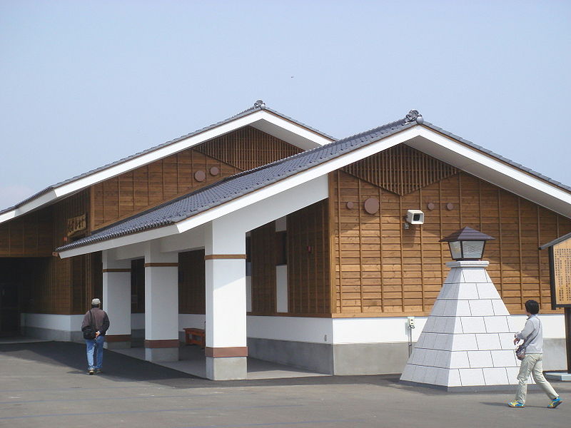
{"type": "Polygon", "coordinates": [[[103,310],[110,321],[105,347],[131,347],[131,261],[103,251],[103,310]]]}

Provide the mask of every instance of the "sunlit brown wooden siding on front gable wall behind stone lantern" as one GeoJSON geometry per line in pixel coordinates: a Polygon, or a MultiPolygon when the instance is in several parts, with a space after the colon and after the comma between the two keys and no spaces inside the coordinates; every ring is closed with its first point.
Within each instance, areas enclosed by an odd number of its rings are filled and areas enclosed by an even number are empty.
{"type": "Polygon", "coordinates": [[[330,188],[337,316],[428,315],[450,261],[438,241],[464,226],[496,238],[485,260],[508,310],[522,313],[533,298],[550,312],[547,251],[537,248],[570,232],[570,219],[467,173],[398,195],[338,170],[330,188]],[[378,213],[365,212],[367,198],[380,201],[378,213]],[[403,229],[406,210],[418,208],[425,224],[403,229]]]}

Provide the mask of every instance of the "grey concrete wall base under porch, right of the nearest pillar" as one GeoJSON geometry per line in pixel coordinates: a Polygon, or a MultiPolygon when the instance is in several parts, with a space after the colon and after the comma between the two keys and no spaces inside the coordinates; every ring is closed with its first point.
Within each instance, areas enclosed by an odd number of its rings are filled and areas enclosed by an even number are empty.
{"type": "Polygon", "coordinates": [[[333,345],[248,337],[248,355],[318,373],[333,374],[333,345]]]}

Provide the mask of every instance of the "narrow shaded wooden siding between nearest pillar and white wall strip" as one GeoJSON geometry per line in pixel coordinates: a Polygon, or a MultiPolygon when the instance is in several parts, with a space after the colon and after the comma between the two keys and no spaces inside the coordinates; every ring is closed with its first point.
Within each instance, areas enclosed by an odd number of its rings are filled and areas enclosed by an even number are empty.
{"type": "Polygon", "coordinates": [[[251,231],[252,315],[276,313],[276,223],[251,231]]]}

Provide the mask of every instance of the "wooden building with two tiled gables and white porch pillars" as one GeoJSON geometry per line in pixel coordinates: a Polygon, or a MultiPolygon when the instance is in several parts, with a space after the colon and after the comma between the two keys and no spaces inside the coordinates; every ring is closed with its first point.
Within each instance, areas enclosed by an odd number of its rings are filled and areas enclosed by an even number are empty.
{"type": "Polygon", "coordinates": [[[144,338],[151,361],[178,358],[184,327],[206,330],[211,379],[245,377],[247,355],[399,372],[405,321],[418,337],[448,273],[439,241],[464,226],[496,238],[487,272],[514,330],[533,298],[560,347],[538,248],[571,232],[570,188],[415,111],[335,141],[258,102],[0,211],[0,329],[81,340],[97,296],[108,347],[144,338]]]}

